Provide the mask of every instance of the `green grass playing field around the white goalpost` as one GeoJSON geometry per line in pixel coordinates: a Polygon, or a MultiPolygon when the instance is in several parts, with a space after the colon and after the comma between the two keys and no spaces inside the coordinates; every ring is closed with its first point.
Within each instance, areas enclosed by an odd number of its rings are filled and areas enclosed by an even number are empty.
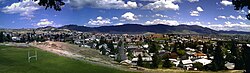
{"type": "Polygon", "coordinates": [[[129,73],[58,56],[37,48],[0,46],[0,73],[129,73]],[[28,63],[27,51],[37,50],[38,61],[28,63]]]}

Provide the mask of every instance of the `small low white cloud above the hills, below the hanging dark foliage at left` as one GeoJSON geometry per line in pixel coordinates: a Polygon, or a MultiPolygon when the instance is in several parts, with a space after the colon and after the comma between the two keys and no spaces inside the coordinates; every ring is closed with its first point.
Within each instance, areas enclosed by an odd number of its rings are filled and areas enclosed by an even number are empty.
{"type": "Polygon", "coordinates": [[[34,26],[38,26],[38,27],[46,27],[46,26],[56,26],[54,24],[54,21],[49,21],[48,19],[41,19],[37,24],[35,24],[34,26]]]}

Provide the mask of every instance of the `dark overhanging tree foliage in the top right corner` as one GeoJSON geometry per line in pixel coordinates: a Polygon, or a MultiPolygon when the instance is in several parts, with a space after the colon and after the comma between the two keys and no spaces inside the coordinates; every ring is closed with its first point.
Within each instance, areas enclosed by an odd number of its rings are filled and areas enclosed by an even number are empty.
{"type": "MultiPolygon", "coordinates": [[[[250,10],[250,0],[232,0],[234,5],[234,10],[242,10],[244,7],[247,7],[250,10]]],[[[246,15],[247,19],[250,20],[250,13],[246,15]]]]}

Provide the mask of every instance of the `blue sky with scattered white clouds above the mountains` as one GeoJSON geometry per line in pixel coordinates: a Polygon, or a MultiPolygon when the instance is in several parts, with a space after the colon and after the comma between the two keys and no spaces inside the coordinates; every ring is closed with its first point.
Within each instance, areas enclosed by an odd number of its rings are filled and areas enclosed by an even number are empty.
{"type": "Polygon", "coordinates": [[[0,0],[0,28],[87,27],[124,24],[199,25],[250,32],[250,11],[234,10],[230,0],[64,0],[62,11],[45,10],[31,0],[0,0]]]}

